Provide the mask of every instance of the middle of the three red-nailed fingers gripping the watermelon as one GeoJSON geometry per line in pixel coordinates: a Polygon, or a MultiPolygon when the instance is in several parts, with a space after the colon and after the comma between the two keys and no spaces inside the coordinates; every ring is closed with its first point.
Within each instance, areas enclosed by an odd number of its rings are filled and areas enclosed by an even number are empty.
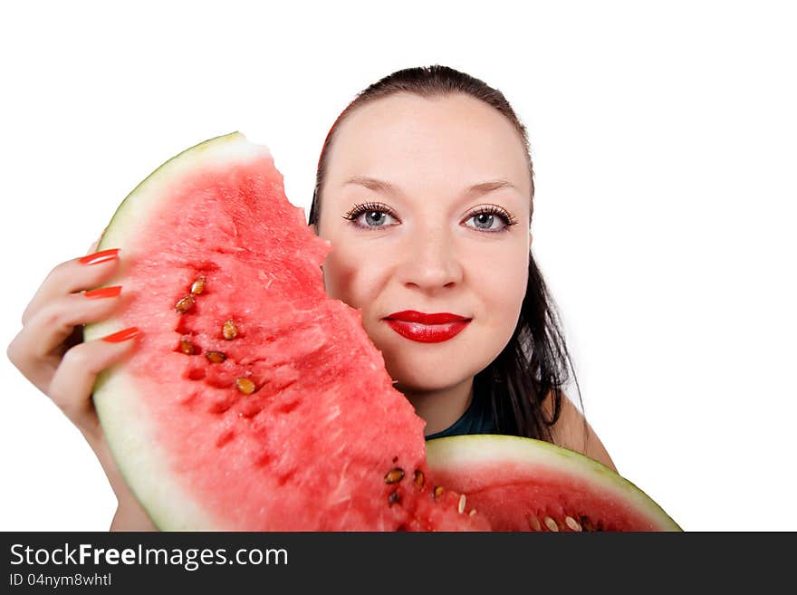
{"type": "Polygon", "coordinates": [[[72,335],[76,326],[108,319],[126,297],[121,293],[121,288],[117,288],[116,295],[113,295],[113,287],[70,293],[54,299],[36,312],[14,339],[14,357],[23,366],[16,361],[14,365],[24,373],[26,365],[35,367],[38,361],[61,346],[72,335]],[[98,293],[106,297],[91,297],[98,293]]]}

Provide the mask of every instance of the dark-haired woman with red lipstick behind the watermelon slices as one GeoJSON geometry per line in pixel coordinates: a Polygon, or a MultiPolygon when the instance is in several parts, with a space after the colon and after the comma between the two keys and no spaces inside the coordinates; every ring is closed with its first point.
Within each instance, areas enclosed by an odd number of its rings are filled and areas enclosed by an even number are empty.
{"type": "MultiPolygon", "coordinates": [[[[536,437],[614,468],[562,394],[570,358],[530,251],[533,189],[526,131],[500,91],[441,66],[394,72],[351,102],[322,149],[310,225],[334,247],[324,283],[362,310],[427,437],[536,437]]],[[[55,267],[8,355],[100,459],[119,499],[111,530],[151,530],[91,402],[134,336],[75,344],[80,324],[118,305],[118,292],[86,290],[119,260],[55,267]]]]}

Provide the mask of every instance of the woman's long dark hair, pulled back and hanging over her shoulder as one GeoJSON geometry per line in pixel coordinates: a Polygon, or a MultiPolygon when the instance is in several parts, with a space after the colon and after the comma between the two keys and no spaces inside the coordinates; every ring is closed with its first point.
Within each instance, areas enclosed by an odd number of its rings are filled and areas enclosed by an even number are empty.
{"type": "MultiPolygon", "coordinates": [[[[329,153],[341,121],[361,106],[399,92],[424,98],[447,97],[457,93],[470,95],[500,111],[512,122],[523,139],[528,160],[531,178],[529,203],[533,216],[534,172],[528,134],[512,106],[501,91],[485,82],[447,66],[434,65],[393,72],[361,91],[341,112],[323,144],[308,224],[315,224],[316,228],[318,226],[329,153]]],[[[571,370],[575,379],[559,314],[530,250],[528,283],[517,326],[504,350],[475,375],[474,400],[483,407],[491,408],[496,433],[550,442],[550,428],[562,411],[562,388],[570,379],[571,370]],[[546,398],[552,399],[550,416],[546,416],[543,410],[546,398]]],[[[581,389],[578,390],[581,402],[581,389]]]]}

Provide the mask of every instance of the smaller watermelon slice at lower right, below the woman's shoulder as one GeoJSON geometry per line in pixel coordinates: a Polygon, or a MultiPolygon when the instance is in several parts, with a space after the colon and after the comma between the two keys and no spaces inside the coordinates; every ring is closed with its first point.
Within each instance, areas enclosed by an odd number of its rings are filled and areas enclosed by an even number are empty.
{"type": "Polygon", "coordinates": [[[456,436],[427,442],[437,482],[466,494],[494,531],[680,531],[636,485],[540,440],[456,436]]]}

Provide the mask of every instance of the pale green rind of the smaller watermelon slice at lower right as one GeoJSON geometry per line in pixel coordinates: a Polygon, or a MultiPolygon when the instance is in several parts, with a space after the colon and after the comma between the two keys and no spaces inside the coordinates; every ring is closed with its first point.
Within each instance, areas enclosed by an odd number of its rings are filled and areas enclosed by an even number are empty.
{"type": "Polygon", "coordinates": [[[658,531],[682,531],[661,506],[625,477],[589,456],[543,440],[487,434],[435,438],[427,441],[427,464],[433,473],[456,474],[461,469],[469,481],[478,481],[468,472],[478,465],[494,467],[498,473],[507,464],[525,465],[532,471],[550,469],[578,477],[602,494],[611,494],[647,518],[658,531]]]}

